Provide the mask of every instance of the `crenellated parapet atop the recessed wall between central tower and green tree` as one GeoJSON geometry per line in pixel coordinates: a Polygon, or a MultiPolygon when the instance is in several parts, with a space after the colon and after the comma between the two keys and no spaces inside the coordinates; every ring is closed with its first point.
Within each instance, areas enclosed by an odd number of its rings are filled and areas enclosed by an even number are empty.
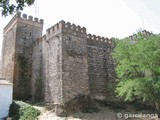
{"type": "Polygon", "coordinates": [[[87,45],[99,47],[112,46],[112,39],[87,34],[87,45]]]}

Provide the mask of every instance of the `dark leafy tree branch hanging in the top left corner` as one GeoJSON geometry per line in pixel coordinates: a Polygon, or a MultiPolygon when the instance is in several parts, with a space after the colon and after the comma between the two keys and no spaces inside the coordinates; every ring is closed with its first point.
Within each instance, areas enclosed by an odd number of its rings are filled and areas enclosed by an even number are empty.
{"type": "Polygon", "coordinates": [[[16,11],[22,11],[25,6],[30,6],[35,0],[0,0],[2,16],[7,16],[16,11]]]}

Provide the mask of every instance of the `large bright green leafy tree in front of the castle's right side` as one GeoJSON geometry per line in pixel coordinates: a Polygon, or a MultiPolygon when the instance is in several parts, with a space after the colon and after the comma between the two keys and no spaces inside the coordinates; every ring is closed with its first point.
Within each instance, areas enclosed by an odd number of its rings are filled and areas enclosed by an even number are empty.
{"type": "Polygon", "coordinates": [[[160,113],[160,36],[137,33],[116,40],[116,93],[125,100],[150,102],[160,113]]]}

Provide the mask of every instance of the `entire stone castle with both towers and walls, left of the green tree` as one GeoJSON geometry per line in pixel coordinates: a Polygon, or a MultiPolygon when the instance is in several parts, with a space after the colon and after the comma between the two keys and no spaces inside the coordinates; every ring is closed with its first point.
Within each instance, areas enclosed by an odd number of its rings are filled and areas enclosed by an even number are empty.
{"type": "Polygon", "coordinates": [[[78,95],[107,98],[113,41],[64,21],[42,30],[42,19],[21,13],[4,28],[2,77],[14,84],[14,99],[64,105],[78,95]]]}

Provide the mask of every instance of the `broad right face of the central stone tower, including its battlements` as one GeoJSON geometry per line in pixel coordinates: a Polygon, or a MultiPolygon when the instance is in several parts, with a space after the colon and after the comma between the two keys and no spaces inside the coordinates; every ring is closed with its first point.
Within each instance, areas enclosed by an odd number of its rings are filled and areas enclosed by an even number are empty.
{"type": "Polygon", "coordinates": [[[89,95],[86,28],[66,23],[62,31],[63,99],[89,95]]]}

